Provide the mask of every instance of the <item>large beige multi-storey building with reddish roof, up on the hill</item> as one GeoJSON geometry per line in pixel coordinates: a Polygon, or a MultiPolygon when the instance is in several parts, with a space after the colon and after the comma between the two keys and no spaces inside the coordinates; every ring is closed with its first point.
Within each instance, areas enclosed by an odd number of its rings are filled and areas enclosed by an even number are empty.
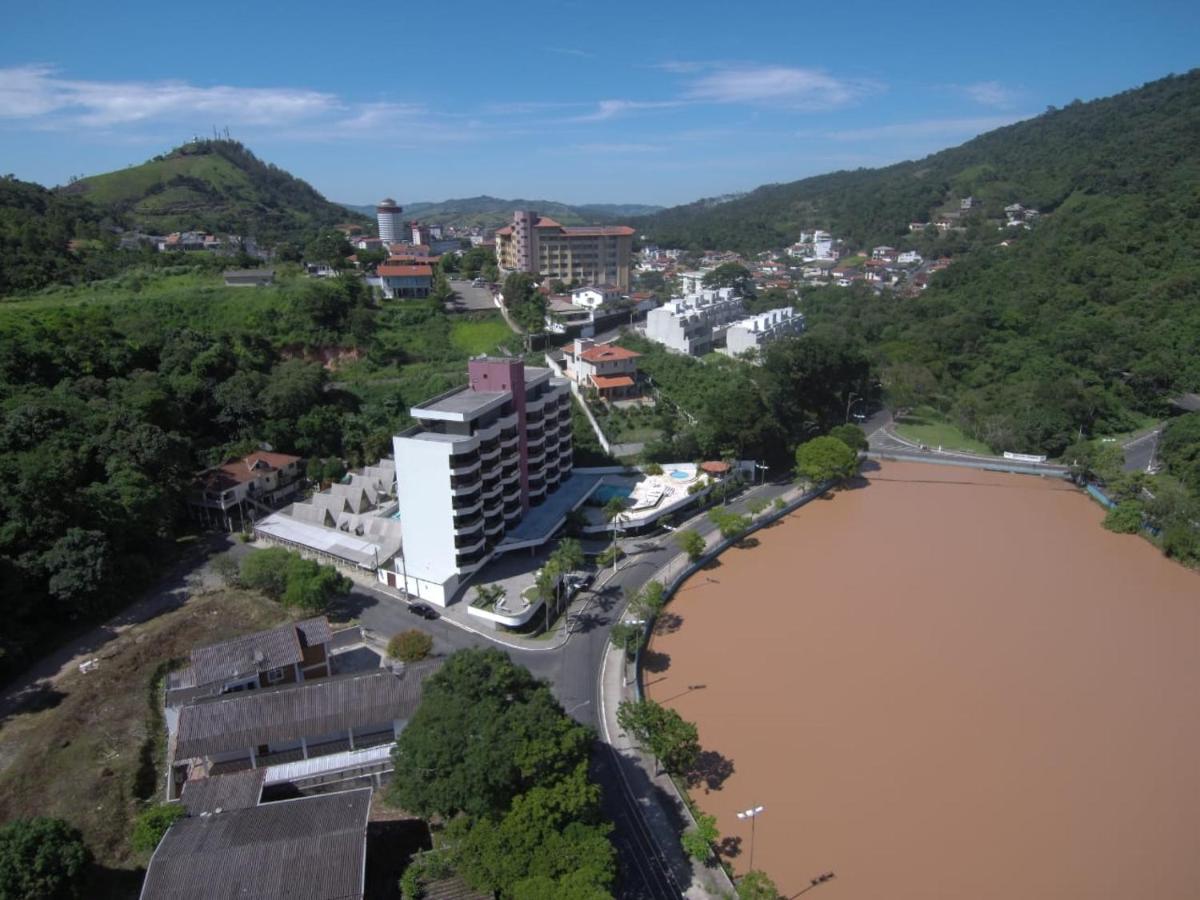
{"type": "Polygon", "coordinates": [[[563,226],[533,210],[517,210],[496,232],[496,259],[505,272],[530,272],[583,284],[629,290],[634,229],[628,226],[563,226]]]}

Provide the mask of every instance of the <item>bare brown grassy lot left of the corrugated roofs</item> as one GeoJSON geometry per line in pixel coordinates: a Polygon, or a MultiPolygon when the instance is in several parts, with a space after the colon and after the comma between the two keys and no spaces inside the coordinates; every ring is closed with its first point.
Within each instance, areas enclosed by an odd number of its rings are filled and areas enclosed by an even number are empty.
{"type": "Polygon", "coordinates": [[[217,590],[121,631],[94,654],[94,670],[67,671],[0,720],[0,821],[59,816],[83,832],[106,870],[142,865],[127,841],[144,798],[161,794],[156,674],[197,644],[288,618],[257,594],[217,590]]]}

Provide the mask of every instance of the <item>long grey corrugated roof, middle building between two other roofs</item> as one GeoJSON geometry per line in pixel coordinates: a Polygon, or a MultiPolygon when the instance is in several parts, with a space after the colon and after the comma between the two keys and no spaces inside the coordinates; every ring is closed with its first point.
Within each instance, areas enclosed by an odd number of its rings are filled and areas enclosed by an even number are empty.
{"type": "Polygon", "coordinates": [[[245,750],[408,719],[421,702],[425,678],[440,660],[304,682],[299,685],[226,694],[179,712],[179,760],[245,750]]]}

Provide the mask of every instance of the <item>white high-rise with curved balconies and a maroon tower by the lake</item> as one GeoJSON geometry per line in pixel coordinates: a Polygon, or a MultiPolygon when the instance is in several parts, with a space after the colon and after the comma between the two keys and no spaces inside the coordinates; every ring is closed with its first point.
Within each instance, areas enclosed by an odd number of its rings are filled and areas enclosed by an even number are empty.
{"type": "Polygon", "coordinates": [[[466,388],[413,407],[418,425],[392,442],[403,552],[386,582],[448,604],[570,475],[570,404],[548,368],[480,358],[466,388]]]}

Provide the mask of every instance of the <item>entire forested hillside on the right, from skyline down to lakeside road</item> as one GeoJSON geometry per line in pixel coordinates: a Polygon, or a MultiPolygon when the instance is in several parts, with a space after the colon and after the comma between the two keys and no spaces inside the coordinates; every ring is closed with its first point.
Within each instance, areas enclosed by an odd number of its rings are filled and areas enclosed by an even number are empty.
{"type": "Polygon", "coordinates": [[[931,406],[997,451],[1057,455],[1200,386],[1200,71],[920,162],[647,223],[662,244],[743,248],[792,241],[802,226],[952,254],[917,298],[826,288],[802,306],[810,328],[868,348],[894,406],[931,406]],[[962,232],[901,236],[967,194],[984,205],[962,232]],[[1032,229],[991,218],[1014,202],[1042,211],[1032,229]]]}

